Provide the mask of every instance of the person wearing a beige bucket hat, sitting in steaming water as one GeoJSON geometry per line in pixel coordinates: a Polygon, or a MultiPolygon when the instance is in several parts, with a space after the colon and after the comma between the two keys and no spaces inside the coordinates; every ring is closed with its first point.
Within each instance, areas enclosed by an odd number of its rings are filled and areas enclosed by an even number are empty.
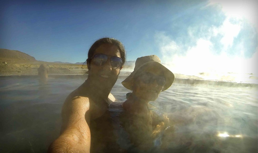
{"type": "MultiPolygon", "coordinates": [[[[122,115],[123,127],[136,150],[129,152],[150,152],[159,147],[159,135],[168,128],[169,120],[165,115],[151,111],[150,101],[155,101],[160,92],[168,89],[174,74],[160,64],[156,55],[137,58],[134,71],[122,85],[132,90],[122,104],[125,112],[122,115]]],[[[157,151],[157,150],[156,150],[157,151]]]]}

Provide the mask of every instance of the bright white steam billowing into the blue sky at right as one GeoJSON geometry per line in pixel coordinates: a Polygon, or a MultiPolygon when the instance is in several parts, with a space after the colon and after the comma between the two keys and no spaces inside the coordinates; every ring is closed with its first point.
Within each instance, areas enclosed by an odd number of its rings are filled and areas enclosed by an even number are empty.
{"type": "Polygon", "coordinates": [[[249,5],[253,4],[251,1],[248,2],[248,5],[234,2],[233,5],[238,6],[234,10],[235,7],[229,3],[210,1],[207,7],[217,3],[221,5],[218,8],[225,15],[221,25],[200,24],[205,20],[200,19],[197,25],[188,26],[187,33],[180,33],[180,38],[157,32],[155,38],[162,62],[176,74],[257,84],[257,26],[253,26],[254,20],[250,19],[250,13],[254,16],[257,9],[249,5]],[[242,13],[237,13],[239,11],[242,13]]]}

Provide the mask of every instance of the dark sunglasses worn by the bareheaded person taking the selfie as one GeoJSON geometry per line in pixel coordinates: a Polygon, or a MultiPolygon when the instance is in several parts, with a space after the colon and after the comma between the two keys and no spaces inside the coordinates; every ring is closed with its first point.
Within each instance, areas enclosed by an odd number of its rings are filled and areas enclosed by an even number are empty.
{"type": "Polygon", "coordinates": [[[110,64],[111,64],[112,68],[120,69],[122,67],[122,65],[123,65],[122,58],[116,57],[116,56],[108,56],[108,55],[105,55],[105,54],[96,54],[96,55],[94,55],[92,57],[93,58],[93,63],[96,66],[102,66],[102,65],[104,65],[108,61],[108,57],[110,57],[110,64]]]}

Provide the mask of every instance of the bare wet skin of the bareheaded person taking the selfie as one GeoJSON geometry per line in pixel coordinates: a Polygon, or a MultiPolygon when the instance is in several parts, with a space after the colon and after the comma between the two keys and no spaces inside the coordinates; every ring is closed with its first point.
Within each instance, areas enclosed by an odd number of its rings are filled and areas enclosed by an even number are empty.
{"type": "MultiPolygon", "coordinates": [[[[94,55],[98,53],[120,57],[118,47],[111,44],[102,44],[94,55]]],[[[48,152],[90,152],[90,123],[102,118],[108,109],[108,103],[115,101],[110,91],[122,67],[112,68],[110,57],[103,66],[96,66],[93,61],[87,62],[87,66],[87,80],[63,104],[61,134],[50,145],[48,152]]]]}

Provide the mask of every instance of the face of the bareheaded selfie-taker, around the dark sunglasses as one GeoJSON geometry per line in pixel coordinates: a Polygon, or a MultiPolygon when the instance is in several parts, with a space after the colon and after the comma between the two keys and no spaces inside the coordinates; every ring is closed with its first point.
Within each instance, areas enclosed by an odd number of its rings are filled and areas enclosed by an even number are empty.
{"type": "Polygon", "coordinates": [[[103,65],[97,66],[94,64],[92,58],[90,64],[88,64],[89,77],[98,80],[102,85],[110,84],[113,86],[116,83],[122,67],[120,69],[112,68],[110,63],[110,57],[120,57],[119,48],[112,44],[102,44],[94,51],[93,57],[96,54],[107,55],[108,60],[103,65]]]}

